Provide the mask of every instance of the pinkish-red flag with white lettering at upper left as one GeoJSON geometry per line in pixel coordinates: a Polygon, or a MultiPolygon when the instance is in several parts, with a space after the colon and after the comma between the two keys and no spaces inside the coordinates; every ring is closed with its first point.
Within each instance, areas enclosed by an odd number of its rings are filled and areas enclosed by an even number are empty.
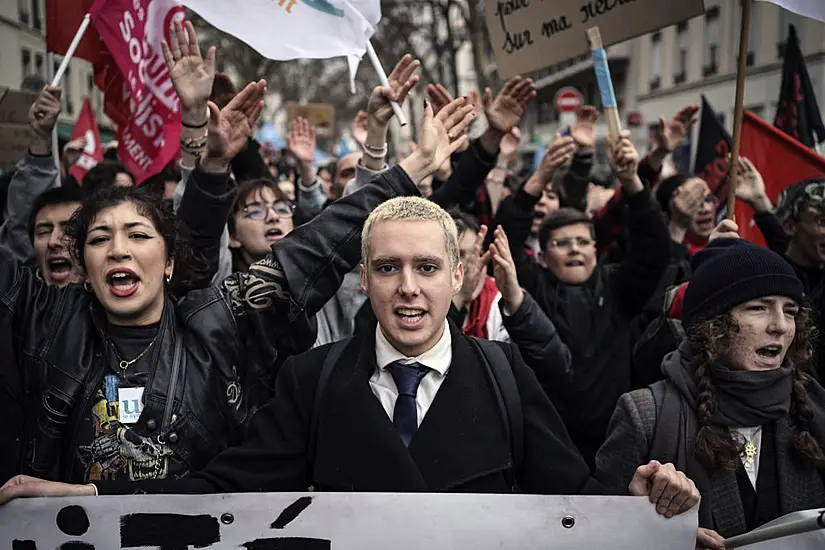
{"type": "Polygon", "coordinates": [[[118,75],[105,75],[107,114],[120,114],[118,156],[140,184],[160,172],[180,145],[180,101],[160,43],[184,9],[175,0],[96,0],[91,9],[118,75]],[[111,95],[114,94],[114,97],[111,95]],[[113,111],[119,110],[119,113],[113,111]]]}

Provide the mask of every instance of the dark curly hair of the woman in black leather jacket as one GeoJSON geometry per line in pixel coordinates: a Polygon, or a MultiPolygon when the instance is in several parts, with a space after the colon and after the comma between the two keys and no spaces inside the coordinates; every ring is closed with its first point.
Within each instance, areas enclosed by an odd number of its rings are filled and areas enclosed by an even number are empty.
{"type": "Polygon", "coordinates": [[[123,203],[134,205],[148,218],[166,245],[166,259],[175,259],[175,283],[185,285],[191,277],[203,276],[206,260],[189,246],[190,231],[172,212],[162,197],[142,187],[104,187],[86,196],[64,228],[67,245],[75,263],[86,270],[86,237],[100,212],[123,203]]]}

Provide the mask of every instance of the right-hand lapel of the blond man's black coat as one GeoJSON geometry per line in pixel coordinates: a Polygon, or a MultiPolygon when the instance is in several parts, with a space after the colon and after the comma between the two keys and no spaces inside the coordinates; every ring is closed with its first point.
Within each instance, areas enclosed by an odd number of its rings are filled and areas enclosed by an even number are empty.
{"type": "Polygon", "coordinates": [[[510,443],[491,382],[467,337],[449,326],[450,370],[410,444],[431,491],[448,491],[510,464],[510,443]]]}

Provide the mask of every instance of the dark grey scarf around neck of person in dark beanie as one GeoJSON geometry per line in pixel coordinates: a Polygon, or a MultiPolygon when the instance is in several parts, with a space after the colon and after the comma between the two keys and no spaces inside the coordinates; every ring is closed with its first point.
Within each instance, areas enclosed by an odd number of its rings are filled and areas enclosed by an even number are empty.
{"type": "MultiPolygon", "coordinates": [[[[690,346],[682,344],[665,359],[663,368],[695,410],[699,388],[690,346]]],[[[784,418],[791,410],[793,366],[787,362],[764,371],[731,370],[717,363],[710,366],[710,377],[718,403],[709,420],[714,426],[762,426],[784,418]]]]}

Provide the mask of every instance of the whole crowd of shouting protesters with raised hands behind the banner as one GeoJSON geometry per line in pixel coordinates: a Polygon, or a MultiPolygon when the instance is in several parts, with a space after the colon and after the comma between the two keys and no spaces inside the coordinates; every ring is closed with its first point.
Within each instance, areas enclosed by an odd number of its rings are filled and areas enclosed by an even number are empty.
{"type": "Polygon", "coordinates": [[[701,495],[700,548],[825,506],[825,180],[774,205],[740,159],[768,247],[740,239],[704,180],[663,177],[693,106],[644,157],[609,142],[606,182],[584,107],[515,176],[519,77],[431,83],[391,162],[411,56],[361,151],[315,166],[306,120],[283,154],[251,138],[266,83],[237,90],[187,31],[164,46],[181,160],[140,186],[111,152],[74,181],[61,90],[31,107],[0,227],[0,503],[312,487],[645,495],[672,517],[701,495]]]}

